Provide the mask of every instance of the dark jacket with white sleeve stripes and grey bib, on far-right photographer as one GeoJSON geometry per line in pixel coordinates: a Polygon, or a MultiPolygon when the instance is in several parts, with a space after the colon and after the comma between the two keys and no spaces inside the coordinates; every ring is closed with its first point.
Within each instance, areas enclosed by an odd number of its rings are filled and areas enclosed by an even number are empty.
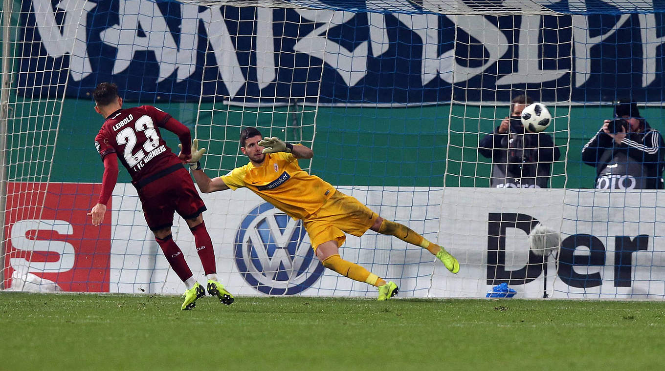
{"type": "Polygon", "coordinates": [[[644,121],[642,133],[621,143],[600,130],[582,149],[582,161],[596,168],[596,188],[662,189],[665,147],[658,130],[644,121]]]}

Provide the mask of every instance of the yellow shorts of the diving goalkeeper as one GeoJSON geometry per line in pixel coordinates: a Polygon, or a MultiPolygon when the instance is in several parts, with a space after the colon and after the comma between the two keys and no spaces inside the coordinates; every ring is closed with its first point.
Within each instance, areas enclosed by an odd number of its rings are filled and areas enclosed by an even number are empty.
{"type": "Polygon", "coordinates": [[[312,248],[328,241],[342,246],[346,233],[362,236],[374,224],[378,214],[356,200],[336,190],[319,210],[303,219],[312,248]]]}

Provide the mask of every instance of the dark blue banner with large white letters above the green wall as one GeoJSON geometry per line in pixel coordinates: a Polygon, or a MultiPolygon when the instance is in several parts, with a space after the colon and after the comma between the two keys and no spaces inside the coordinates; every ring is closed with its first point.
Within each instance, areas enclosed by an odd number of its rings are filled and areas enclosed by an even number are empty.
{"type": "Polygon", "coordinates": [[[24,0],[25,96],[237,104],[665,97],[665,13],[452,16],[24,0]],[[64,68],[64,69],[60,69],[64,68]]]}

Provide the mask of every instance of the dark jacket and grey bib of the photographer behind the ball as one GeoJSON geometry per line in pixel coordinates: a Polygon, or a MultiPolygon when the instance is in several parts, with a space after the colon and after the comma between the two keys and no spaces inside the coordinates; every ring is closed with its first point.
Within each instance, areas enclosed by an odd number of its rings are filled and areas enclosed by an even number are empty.
{"type": "Polygon", "coordinates": [[[547,188],[554,161],[561,152],[547,133],[524,133],[521,124],[511,123],[509,133],[499,127],[478,143],[478,152],[492,159],[489,185],[497,188],[547,188]]]}

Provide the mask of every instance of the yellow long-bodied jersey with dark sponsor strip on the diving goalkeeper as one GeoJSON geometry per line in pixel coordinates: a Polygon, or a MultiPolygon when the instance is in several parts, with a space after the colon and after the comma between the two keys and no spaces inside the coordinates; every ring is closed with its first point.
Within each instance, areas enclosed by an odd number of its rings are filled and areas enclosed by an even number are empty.
{"type": "Polygon", "coordinates": [[[323,179],[309,175],[291,153],[266,153],[259,167],[248,163],[236,167],[221,180],[229,188],[246,187],[295,219],[313,214],[331,198],[335,189],[323,179]]]}

